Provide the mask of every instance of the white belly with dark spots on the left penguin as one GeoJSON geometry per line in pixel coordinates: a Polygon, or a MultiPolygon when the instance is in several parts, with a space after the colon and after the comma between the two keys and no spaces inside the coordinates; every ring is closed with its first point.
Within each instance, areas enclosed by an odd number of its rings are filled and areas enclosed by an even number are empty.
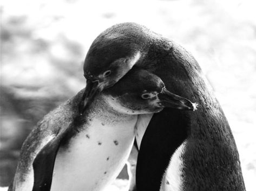
{"type": "Polygon", "coordinates": [[[120,173],[134,142],[137,117],[115,125],[93,120],[57,153],[51,190],[101,190],[120,173]]]}

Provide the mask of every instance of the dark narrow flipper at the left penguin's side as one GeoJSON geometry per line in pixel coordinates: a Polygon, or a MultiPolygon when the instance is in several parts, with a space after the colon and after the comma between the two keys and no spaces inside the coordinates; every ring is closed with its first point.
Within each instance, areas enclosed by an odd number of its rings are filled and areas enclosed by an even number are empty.
{"type": "Polygon", "coordinates": [[[32,191],[48,191],[51,189],[52,173],[58,149],[68,129],[58,133],[36,155],[33,162],[34,186],[32,191]]]}

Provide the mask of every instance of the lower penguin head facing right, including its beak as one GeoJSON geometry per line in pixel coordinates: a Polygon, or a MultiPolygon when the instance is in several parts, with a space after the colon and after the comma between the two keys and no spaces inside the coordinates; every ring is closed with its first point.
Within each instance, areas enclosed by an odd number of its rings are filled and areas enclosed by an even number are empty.
{"type": "Polygon", "coordinates": [[[127,114],[156,113],[164,107],[195,110],[191,101],[169,92],[159,77],[141,69],[131,69],[102,94],[111,107],[127,114]]]}

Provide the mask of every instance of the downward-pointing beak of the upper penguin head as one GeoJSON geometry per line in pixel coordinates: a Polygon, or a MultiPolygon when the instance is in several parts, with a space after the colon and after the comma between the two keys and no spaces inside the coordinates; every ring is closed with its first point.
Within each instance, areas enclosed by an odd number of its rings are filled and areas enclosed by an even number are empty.
{"type": "Polygon", "coordinates": [[[78,110],[81,115],[90,106],[96,95],[98,95],[102,90],[103,88],[101,84],[99,84],[99,81],[91,81],[87,79],[86,88],[83,92],[82,100],[78,106],[78,110]]]}

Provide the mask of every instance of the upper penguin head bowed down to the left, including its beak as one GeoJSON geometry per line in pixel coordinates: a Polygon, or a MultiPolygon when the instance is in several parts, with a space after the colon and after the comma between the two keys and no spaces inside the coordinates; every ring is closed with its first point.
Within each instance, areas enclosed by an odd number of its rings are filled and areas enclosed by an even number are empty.
{"type": "Polygon", "coordinates": [[[80,103],[80,113],[102,90],[113,86],[143,57],[146,38],[142,26],[121,23],[103,31],[91,44],[84,60],[87,85],[80,103]]]}

